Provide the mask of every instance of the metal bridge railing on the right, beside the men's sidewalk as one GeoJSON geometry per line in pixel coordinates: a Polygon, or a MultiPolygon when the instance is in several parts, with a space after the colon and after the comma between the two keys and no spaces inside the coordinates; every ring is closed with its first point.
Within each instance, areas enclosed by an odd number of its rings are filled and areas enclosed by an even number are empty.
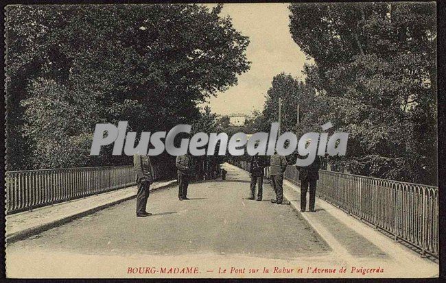
{"type": "MultiPolygon", "coordinates": [[[[249,162],[235,165],[247,170],[249,162]]],[[[285,179],[300,184],[296,167],[287,167],[285,179]]],[[[316,195],[438,257],[438,187],[320,170],[316,195]]]]}

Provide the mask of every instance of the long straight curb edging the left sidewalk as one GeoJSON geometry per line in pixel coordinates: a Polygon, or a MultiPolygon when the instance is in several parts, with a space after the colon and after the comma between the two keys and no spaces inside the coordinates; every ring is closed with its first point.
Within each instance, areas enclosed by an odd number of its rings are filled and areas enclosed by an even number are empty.
{"type": "MultiPolygon", "coordinates": [[[[176,180],[168,181],[165,184],[160,184],[160,186],[157,186],[156,188],[152,188],[152,190],[150,190],[150,192],[152,192],[154,190],[159,190],[160,188],[165,188],[165,187],[170,186],[170,185],[172,185],[174,183],[176,183],[176,180]]],[[[115,206],[116,204],[119,204],[119,203],[121,203],[123,201],[128,201],[130,199],[134,199],[135,197],[137,197],[136,194],[131,195],[130,197],[123,197],[122,199],[117,199],[115,201],[110,201],[107,204],[102,204],[102,205],[96,206],[94,208],[89,208],[89,209],[84,210],[82,212],[76,212],[74,214],[69,214],[69,215],[67,215],[65,217],[62,217],[61,219],[57,219],[57,220],[51,221],[49,223],[43,223],[43,224],[36,225],[34,227],[31,227],[31,228],[27,228],[25,230],[14,232],[14,233],[12,233],[12,234],[10,234],[10,235],[5,237],[5,242],[6,242],[6,244],[10,244],[10,243],[14,243],[14,242],[19,241],[19,240],[23,240],[24,238],[28,238],[30,236],[34,236],[36,234],[39,234],[39,233],[44,232],[46,230],[49,230],[49,229],[51,229],[53,227],[60,226],[60,225],[62,225],[64,223],[68,223],[70,221],[73,221],[74,219],[78,219],[80,217],[84,217],[84,216],[86,216],[88,214],[93,214],[93,213],[95,213],[95,212],[97,212],[99,210],[103,210],[104,208],[108,208],[110,206],[115,206]]]]}

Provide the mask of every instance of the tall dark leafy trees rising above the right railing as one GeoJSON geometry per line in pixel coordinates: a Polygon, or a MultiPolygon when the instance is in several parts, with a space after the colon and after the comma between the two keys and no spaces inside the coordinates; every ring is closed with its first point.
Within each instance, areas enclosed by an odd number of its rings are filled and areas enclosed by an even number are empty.
{"type": "Polygon", "coordinates": [[[295,3],[290,32],[314,59],[306,84],[349,132],[353,173],[436,184],[434,3],[295,3]]]}

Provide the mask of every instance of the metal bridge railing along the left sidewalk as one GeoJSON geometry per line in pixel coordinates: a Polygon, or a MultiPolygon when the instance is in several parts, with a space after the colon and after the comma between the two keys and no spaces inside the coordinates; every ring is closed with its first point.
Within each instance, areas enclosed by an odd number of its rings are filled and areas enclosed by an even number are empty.
{"type": "MultiPolygon", "coordinates": [[[[154,166],[153,175],[164,174],[154,166]]],[[[131,165],[8,171],[5,183],[6,214],[12,214],[133,186],[135,175],[131,165]]]]}

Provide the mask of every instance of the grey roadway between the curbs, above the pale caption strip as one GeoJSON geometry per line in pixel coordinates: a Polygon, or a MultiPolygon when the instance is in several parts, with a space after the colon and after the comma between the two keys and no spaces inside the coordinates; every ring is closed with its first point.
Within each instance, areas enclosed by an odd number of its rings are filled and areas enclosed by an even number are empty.
{"type": "Polygon", "coordinates": [[[247,199],[248,175],[228,167],[226,181],[189,185],[189,201],[178,201],[176,187],[150,195],[148,211],[137,218],[135,201],[96,212],[8,247],[14,251],[75,254],[185,255],[239,254],[297,258],[327,254],[325,245],[290,206],[247,199]]]}

